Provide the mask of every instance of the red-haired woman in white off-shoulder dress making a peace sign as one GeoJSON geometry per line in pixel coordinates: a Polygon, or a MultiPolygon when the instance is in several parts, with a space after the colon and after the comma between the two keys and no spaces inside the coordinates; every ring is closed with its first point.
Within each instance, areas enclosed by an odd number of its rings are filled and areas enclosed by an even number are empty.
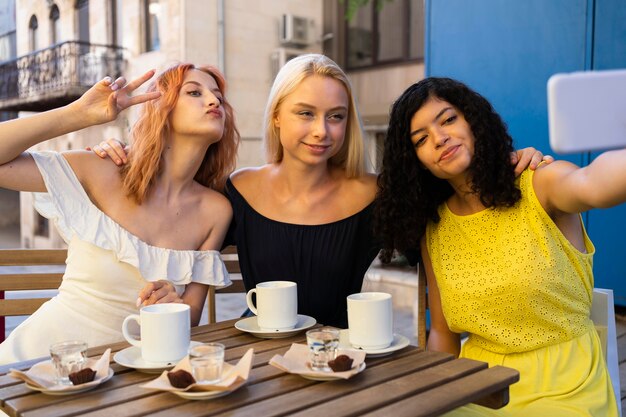
{"type": "Polygon", "coordinates": [[[59,294],[0,345],[0,363],[46,356],[60,340],[121,340],[140,304],[187,303],[197,325],[207,286],[229,284],[218,250],[232,212],[218,191],[239,135],[224,79],[181,64],[131,97],[153,75],[105,78],[65,107],[0,124],[0,186],[38,193],[37,210],[68,243],[59,294]],[[25,152],[142,102],[123,168],[85,151],[25,152]]]}

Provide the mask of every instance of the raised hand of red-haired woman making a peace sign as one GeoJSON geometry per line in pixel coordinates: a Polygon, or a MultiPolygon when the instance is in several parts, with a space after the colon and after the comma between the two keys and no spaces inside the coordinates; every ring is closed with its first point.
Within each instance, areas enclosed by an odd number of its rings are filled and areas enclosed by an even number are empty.
{"type": "Polygon", "coordinates": [[[141,77],[126,83],[123,77],[118,78],[114,82],[111,77],[104,77],[93,87],[85,92],[78,100],[73,102],[73,110],[80,112],[82,117],[90,125],[115,120],[117,116],[130,106],[144,103],[149,100],[157,99],[161,96],[159,91],[138,94],[131,94],[143,83],[148,81],[154,75],[154,70],[146,72],[141,77]]]}

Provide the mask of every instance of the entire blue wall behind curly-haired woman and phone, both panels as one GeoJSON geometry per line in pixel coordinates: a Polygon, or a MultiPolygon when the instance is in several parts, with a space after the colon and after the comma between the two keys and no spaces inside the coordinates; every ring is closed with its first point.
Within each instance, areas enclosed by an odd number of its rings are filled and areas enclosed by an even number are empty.
{"type": "MultiPolygon", "coordinates": [[[[517,147],[550,152],[546,82],[558,72],[626,68],[626,0],[426,0],[426,74],[486,96],[517,147]]],[[[585,165],[596,154],[556,155],[585,165]]],[[[584,215],[596,286],[626,305],[626,206],[584,215]]]]}

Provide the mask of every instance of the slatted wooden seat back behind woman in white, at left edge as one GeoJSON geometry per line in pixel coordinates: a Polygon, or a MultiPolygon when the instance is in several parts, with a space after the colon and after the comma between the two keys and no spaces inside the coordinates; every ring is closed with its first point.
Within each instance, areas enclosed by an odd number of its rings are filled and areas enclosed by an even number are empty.
{"type": "Polygon", "coordinates": [[[0,342],[4,341],[5,317],[30,315],[50,299],[29,292],[22,293],[24,298],[7,300],[5,291],[56,290],[63,279],[66,258],[65,249],[0,250],[0,342]],[[34,266],[57,266],[57,271],[30,268],[34,266]]]}

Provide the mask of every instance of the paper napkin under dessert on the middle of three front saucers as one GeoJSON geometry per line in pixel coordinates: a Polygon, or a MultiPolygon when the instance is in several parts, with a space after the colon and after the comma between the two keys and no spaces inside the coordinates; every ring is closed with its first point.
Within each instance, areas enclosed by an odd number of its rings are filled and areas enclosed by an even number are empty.
{"type": "MultiPolygon", "coordinates": [[[[167,377],[168,371],[163,373],[155,380],[148,382],[147,384],[140,385],[143,388],[156,389],[162,391],[234,391],[246,383],[250,376],[250,369],[252,368],[252,358],[254,356],[254,349],[250,348],[245,355],[239,359],[237,365],[231,365],[224,362],[222,369],[222,376],[219,382],[215,384],[191,384],[186,388],[176,388],[172,386],[169,378],[167,377]]],[[[189,356],[185,356],[171,372],[184,370],[191,373],[191,364],[189,363],[189,356]]]]}

